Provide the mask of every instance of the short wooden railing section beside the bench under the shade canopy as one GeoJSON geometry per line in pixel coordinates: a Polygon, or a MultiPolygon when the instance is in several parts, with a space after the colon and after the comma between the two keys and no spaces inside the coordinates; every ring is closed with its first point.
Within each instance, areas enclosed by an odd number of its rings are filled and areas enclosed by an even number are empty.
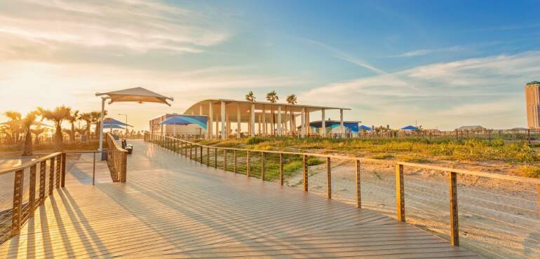
{"type": "Polygon", "coordinates": [[[107,141],[107,165],[111,172],[112,181],[125,183],[128,170],[128,151],[119,146],[109,132],[107,132],[105,140],[107,141]]]}

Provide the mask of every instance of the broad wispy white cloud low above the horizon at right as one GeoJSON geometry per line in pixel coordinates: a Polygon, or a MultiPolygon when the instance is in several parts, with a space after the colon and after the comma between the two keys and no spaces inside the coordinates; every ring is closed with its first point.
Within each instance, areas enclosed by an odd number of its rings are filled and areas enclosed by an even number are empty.
{"type": "Polygon", "coordinates": [[[496,55],[330,83],[299,99],[351,106],[359,110],[357,119],[381,125],[422,120],[447,129],[522,126],[522,85],[539,74],[540,52],[496,55]]]}

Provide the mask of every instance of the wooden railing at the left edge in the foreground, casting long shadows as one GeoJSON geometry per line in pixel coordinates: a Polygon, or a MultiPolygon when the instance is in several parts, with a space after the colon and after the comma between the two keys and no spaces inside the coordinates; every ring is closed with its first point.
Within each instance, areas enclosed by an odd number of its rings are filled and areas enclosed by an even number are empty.
{"type": "Polygon", "coordinates": [[[31,162],[26,162],[18,167],[0,170],[2,174],[15,174],[13,183],[13,208],[11,209],[11,236],[19,235],[20,229],[29,218],[34,216],[34,211],[45,202],[53,190],[65,186],[66,153],[52,153],[31,162]],[[49,161],[47,167],[46,162],[49,161]],[[39,167],[38,167],[39,165],[39,167]],[[23,204],[25,196],[24,178],[25,170],[29,169],[28,202],[23,204]],[[38,171],[39,169],[39,171],[38,171]],[[46,170],[49,170],[48,188],[46,192],[46,170]],[[39,180],[36,183],[36,180],[39,180]],[[39,189],[36,186],[39,185],[39,189]],[[39,196],[36,198],[36,191],[39,196]]]}

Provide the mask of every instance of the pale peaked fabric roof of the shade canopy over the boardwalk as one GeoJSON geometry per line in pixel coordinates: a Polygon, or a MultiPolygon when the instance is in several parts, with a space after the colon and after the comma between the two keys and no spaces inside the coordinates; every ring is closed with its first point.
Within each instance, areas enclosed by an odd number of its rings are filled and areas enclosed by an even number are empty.
{"type": "Polygon", "coordinates": [[[112,91],[112,92],[104,92],[104,93],[96,93],[96,96],[102,96],[102,95],[108,95],[109,96],[109,104],[112,104],[113,102],[138,102],[142,104],[143,102],[157,102],[160,104],[167,104],[170,106],[170,104],[167,102],[167,100],[173,101],[173,97],[165,97],[161,94],[158,94],[156,92],[152,92],[150,90],[144,89],[142,87],[134,87],[119,91],[112,91]]]}

